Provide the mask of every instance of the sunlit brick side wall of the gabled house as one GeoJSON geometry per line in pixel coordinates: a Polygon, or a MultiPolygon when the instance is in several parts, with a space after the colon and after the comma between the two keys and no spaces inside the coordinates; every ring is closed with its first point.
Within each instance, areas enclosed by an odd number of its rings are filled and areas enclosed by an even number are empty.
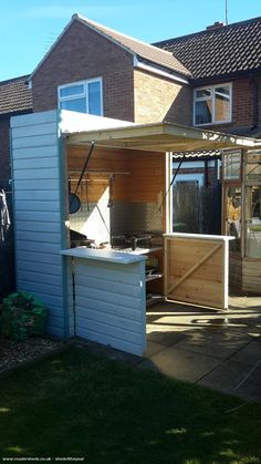
{"type": "Polygon", "coordinates": [[[192,91],[188,85],[134,71],[135,122],[150,123],[164,118],[191,125],[192,91]]]}

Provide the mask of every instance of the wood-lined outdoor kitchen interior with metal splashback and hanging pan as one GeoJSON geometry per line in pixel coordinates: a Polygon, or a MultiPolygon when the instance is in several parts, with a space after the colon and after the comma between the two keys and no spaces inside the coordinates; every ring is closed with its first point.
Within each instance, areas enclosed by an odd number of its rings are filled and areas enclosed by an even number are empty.
{"type": "Polygon", "coordinates": [[[163,299],[165,155],[67,147],[71,247],[146,256],[147,306],[163,299]]]}

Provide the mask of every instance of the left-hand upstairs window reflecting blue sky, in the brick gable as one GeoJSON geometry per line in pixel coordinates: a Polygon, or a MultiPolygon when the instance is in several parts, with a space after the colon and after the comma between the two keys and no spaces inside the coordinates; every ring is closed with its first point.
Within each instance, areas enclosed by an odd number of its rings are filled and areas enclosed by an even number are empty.
{"type": "Polygon", "coordinates": [[[58,96],[61,110],[103,115],[101,78],[60,85],[58,96]]]}

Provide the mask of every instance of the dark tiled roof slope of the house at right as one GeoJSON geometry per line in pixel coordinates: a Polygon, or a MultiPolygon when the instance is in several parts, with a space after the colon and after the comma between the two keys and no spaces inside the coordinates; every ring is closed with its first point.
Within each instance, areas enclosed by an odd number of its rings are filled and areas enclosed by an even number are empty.
{"type": "Polygon", "coordinates": [[[261,70],[261,17],[155,45],[174,53],[194,79],[261,70]]]}

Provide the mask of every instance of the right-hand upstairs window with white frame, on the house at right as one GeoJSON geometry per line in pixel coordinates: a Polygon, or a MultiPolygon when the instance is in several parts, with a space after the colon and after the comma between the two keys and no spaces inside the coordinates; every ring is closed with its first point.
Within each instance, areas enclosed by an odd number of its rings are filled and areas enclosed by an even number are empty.
{"type": "Polygon", "coordinates": [[[222,124],[231,122],[232,85],[212,85],[195,89],[194,124],[222,124]]]}

